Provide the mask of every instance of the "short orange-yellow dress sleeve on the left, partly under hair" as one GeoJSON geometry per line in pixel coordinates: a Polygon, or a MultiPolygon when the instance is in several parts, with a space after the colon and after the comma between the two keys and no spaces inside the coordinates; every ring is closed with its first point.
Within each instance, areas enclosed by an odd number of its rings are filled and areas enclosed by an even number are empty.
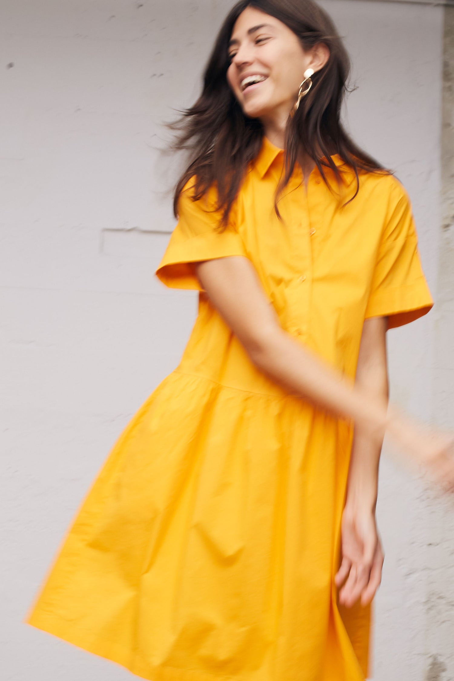
{"type": "Polygon", "coordinates": [[[178,198],[178,223],[170,236],[155,274],[166,286],[203,291],[193,264],[228,255],[246,255],[243,240],[235,225],[233,204],[224,232],[216,232],[221,210],[216,207],[214,186],[197,201],[192,200],[195,176],[184,185],[178,198]]]}

